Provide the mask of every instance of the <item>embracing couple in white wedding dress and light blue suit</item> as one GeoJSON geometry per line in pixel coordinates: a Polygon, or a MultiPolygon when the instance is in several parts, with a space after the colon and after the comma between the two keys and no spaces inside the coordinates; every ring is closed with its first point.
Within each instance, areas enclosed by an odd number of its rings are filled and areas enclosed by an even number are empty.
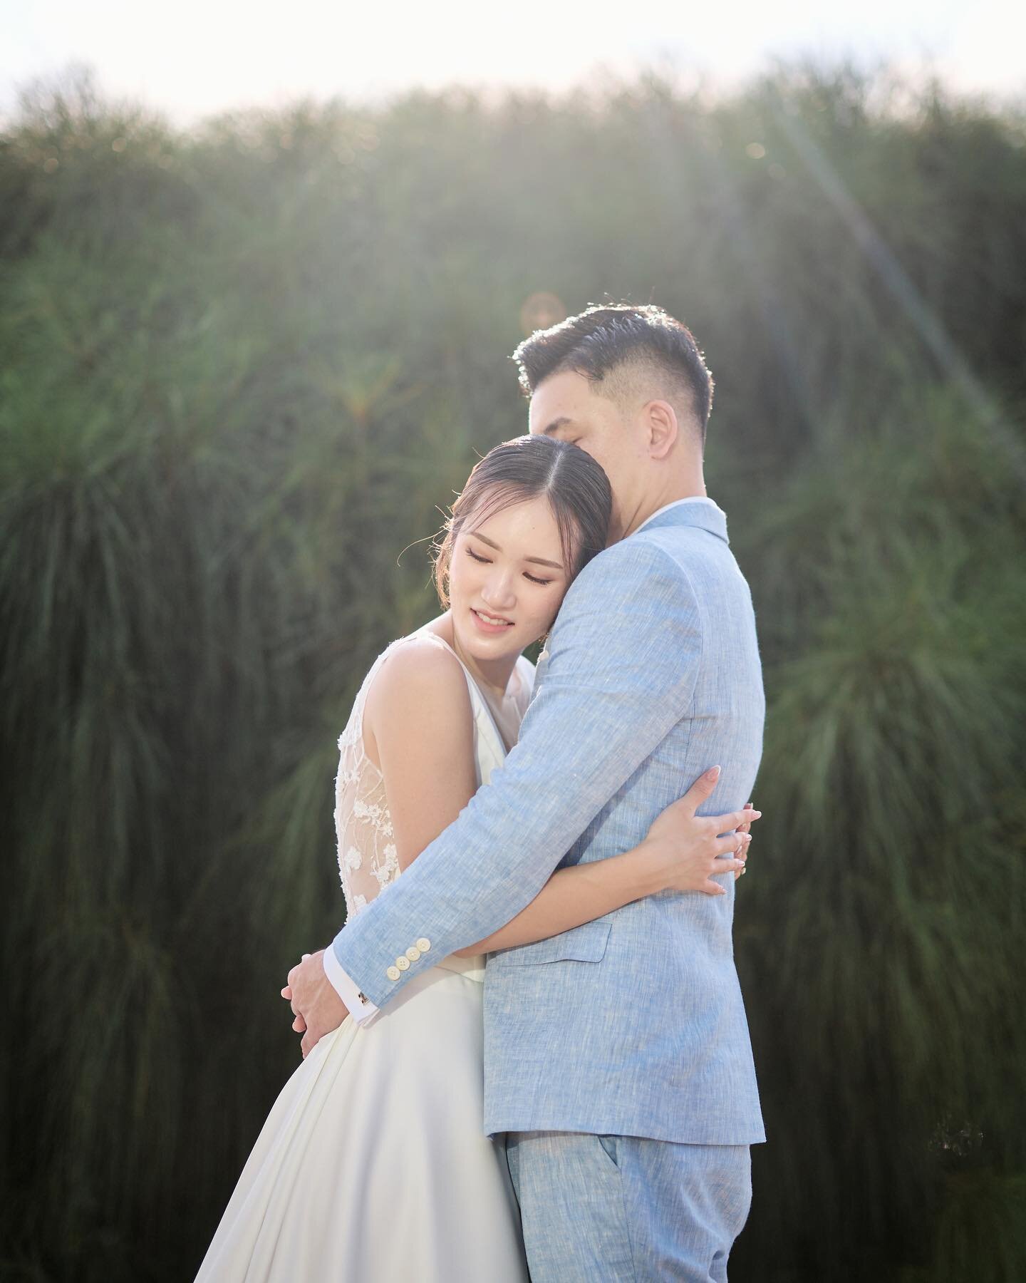
{"type": "Polygon", "coordinates": [[[445,612],[339,740],[346,925],[289,973],[304,1060],[204,1283],[727,1277],[764,1139],[731,946],[764,703],[712,380],[655,307],[514,355],[530,435],[475,467],[445,612]]]}

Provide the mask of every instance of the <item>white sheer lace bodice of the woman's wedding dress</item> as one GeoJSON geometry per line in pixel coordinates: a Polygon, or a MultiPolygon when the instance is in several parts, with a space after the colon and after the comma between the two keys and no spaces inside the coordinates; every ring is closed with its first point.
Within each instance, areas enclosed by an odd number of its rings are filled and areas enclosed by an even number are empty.
{"type": "MultiPolygon", "coordinates": [[[[412,634],[431,639],[459,659],[455,650],[430,629],[412,634]]],[[[382,663],[396,647],[410,638],[392,642],[373,662],[363,679],[353,712],[339,736],[339,774],[335,779],[335,834],[339,844],[339,874],[342,881],[346,915],[359,913],[374,897],[399,876],[399,857],[392,833],[392,819],[385,779],[363,747],[363,709],[367,695],[382,663]]],[[[471,695],[475,734],[475,766],[477,785],[487,784],[491,772],[503,762],[505,745],[485,697],[469,670],[460,659],[471,695]]],[[[517,709],[517,724],[527,711],[534,684],[534,666],[521,657],[509,679],[508,697],[517,709]]]]}

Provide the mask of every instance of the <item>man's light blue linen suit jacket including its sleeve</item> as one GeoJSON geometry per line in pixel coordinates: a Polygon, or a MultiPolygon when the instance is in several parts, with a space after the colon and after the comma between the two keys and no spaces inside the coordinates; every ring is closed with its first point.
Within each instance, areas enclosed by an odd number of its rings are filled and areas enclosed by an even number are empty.
{"type": "MultiPolygon", "coordinates": [[[[509,921],[557,865],[636,845],[709,766],[722,772],[703,811],[740,808],[763,717],[752,597],[726,517],[712,504],[668,508],[573,582],[519,743],[339,933],[339,962],[383,1007],[439,958],[509,921]],[[418,940],[430,949],[396,973],[418,940]]],[[[734,965],[732,875],[722,884],[726,896],[664,892],[491,955],[486,1132],[764,1139],[734,965]]]]}

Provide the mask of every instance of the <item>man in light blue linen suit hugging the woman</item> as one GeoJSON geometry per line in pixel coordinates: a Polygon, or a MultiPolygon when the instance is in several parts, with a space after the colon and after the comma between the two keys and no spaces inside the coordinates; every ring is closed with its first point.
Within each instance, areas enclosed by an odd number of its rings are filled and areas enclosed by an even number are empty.
{"type": "MultiPolygon", "coordinates": [[[[507,922],[560,862],[634,847],[711,762],[712,813],[752,792],[754,617],[705,497],[712,378],[693,335],[659,308],[590,308],[514,358],[531,431],[605,468],[616,541],[568,591],[489,788],[290,973],[304,1053],[507,922]]],[[[485,1129],[507,1134],[534,1283],[726,1279],[764,1139],[732,910],[732,881],[655,896],[490,958],[485,1129]]]]}

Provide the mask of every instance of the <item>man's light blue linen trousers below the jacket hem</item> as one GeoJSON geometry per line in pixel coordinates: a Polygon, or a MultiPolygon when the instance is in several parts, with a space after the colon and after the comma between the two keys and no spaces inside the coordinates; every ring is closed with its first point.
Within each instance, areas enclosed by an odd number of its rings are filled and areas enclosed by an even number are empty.
{"type": "Polygon", "coordinates": [[[531,1283],[726,1283],[752,1205],[746,1144],[510,1132],[531,1283]]]}

